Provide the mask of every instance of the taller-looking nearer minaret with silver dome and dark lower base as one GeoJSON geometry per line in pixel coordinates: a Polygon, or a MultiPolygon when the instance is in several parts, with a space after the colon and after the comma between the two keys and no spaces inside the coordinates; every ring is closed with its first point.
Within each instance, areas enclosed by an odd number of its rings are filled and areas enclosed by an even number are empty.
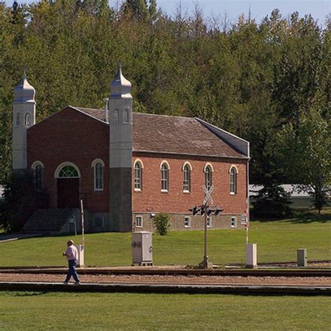
{"type": "Polygon", "coordinates": [[[122,75],[110,84],[110,226],[132,230],[132,96],[131,82],[122,75]]]}

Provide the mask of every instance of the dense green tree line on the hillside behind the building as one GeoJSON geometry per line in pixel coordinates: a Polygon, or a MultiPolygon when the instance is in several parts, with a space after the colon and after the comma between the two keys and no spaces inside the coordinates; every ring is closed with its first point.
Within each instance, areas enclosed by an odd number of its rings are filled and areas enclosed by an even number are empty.
{"type": "Polygon", "coordinates": [[[331,184],[330,27],[330,15],[321,25],[278,9],[228,22],[198,5],[170,16],[156,0],[0,2],[0,182],[24,67],[38,122],[68,104],[101,108],[122,63],[135,112],[196,116],[249,140],[250,182],[264,185],[257,207],[272,196],[267,209],[286,212],[279,184],[291,183],[320,209],[331,184]]]}

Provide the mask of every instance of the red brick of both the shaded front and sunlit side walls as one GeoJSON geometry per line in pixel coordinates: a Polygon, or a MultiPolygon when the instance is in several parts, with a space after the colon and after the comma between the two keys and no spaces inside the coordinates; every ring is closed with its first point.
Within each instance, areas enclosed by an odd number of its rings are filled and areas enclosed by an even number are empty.
{"type": "MultiPolygon", "coordinates": [[[[28,167],[34,161],[45,165],[45,189],[50,194],[50,207],[57,207],[57,179],[54,172],[63,162],[78,166],[80,193],[86,196],[89,212],[109,212],[109,126],[82,114],[65,108],[52,117],[32,126],[27,131],[28,167]],[[104,168],[103,191],[94,191],[94,176],[91,163],[102,159],[104,168]],[[84,179],[84,181],[82,180],[84,179]]],[[[242,214],[246,210],[246,160],[215,159],[203,157],[163,156],[157,154],[133,153],[135,159],[144,164],[142,192],[133,191],[133,212],[188,213],[193,205],[200,205],[204,198],[202,186],[205,181],[203,169],[211,163],[213,172],[214,205],[224,209],[223,214],[242,214]],[[161,161],[170,164],[170,189],[161,193],[161,161]],[[191,193],[183,193],[182,165],[189,161],[191,171],[191,193]],[[239,170],[237,195],[230,195],[229,168],[235,164],[239,170]]],[[[132,180],[134,171],[132,172],[132,180]]],[[[133,183],[134,187],[134,183],[133,183]]]]}

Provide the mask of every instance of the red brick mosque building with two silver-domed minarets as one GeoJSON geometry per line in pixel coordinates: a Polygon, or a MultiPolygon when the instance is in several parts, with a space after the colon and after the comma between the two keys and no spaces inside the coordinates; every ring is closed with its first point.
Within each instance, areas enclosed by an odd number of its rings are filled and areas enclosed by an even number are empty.
{"type": "Polygon", "coordinates": [[[214,186],[214,205],[223,209],[208,226],[243,227],[249,143],[198,118],[132,112],[131,83],[121,70],[110,90],[104,109],[69,105],[35,124],[34,88],[25,75],[15,87],[13,170],[31,171],[48,196],[48,208],[36,211],[27,229],[41,219],[52,223],[48,210],[64,212],[51,230],[68,230],[80,200],[91,232],[152,230],[158,212],[170,214],[172,229],[203,228],[203,217],[189,212],[202,203],[203,184],[214,186]]]}

